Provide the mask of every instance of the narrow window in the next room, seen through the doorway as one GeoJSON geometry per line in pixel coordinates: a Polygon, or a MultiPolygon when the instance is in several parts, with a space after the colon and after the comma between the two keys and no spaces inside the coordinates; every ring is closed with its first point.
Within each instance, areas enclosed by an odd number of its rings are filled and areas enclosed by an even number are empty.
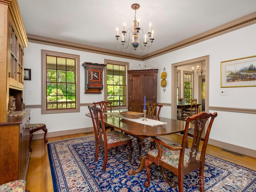
{"type": "Polygon", "coordinates": [[[192,73],[184,72],[184,102],[188,103],[193,96],[192,73]]]}

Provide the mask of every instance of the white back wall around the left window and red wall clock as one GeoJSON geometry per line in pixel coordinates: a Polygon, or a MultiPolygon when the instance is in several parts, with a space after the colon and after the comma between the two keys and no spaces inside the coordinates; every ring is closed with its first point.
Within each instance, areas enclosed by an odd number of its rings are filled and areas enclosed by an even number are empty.
{"type": "MultiPolygon", "coordinates": [[[[41,50],[51,50],[56,52],[64,52],[69,54],[80,55],[80,103],[93,103],[104,100],[104,91],[102,94],[84,94],[84,67],[82,63],[95,62],[104,63],[104,59],[118,60],[129,62],[130,68],[136,68],[138,64],[142,65],[141,61],[120,59],[112,56],[105,56],[100,54],[70,50],[66,48],[59,48],[54,46],[29,43],[29,46],[24,51],[25,68],[31,69],[31,81],[24,81],[23,102],[25,105],[41,105],[41,50]],[[28,90],[32,90],[32,95],[28,94],[28,90]]],[[[104,77],[103,77],[104,79],[104,77]]],[[[62,114],[41,114],[41,108],[33,108],[30,114],[30,123],[45,123],[48,132],[58,132],[64,130],[90,128],[92,127],[92,120],[86,117],[88,113],[87,106],[81,106],[80,112],[62,113],[62,114]]],[[[40,134],[36,132],[35,134],[40,134]]]]}

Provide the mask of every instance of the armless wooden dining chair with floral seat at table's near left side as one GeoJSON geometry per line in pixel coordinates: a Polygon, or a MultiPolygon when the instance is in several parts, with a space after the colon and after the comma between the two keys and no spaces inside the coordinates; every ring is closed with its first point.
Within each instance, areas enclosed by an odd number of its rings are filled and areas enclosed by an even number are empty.
{"type": "MultiPolygon", "coordinates": [[[[92,123],[95,134],[96,154],[95,162],[98,160],[99,145],[104,148],[104,163],[102,171],[106,170],[108,161],[108,149],[112,147],[128,145],[130,147],[130,163],[134,164],[132,160],[132,139],[130,136],[123,134],[117,130],[106,132],[105,125],[103,122],[102,110],[96,106],[88,106],[92,117],[92,123]]],[[[117,151],[116,151],[117,152],[117,151]]]]}

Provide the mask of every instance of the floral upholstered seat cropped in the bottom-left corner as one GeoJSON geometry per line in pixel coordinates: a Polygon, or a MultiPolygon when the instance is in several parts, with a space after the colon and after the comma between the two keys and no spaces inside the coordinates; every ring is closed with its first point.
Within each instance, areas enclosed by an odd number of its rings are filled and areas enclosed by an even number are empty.
{"type": "Polygon", "coordinates": [[[25,180],[16,180],[0,185],[0,192],[29,192],[25,180]]]}

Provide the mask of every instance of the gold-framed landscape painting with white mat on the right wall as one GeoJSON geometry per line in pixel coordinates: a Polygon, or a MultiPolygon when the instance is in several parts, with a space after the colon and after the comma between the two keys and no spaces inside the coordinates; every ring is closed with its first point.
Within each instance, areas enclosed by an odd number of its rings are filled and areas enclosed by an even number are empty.
{"type": "Polygon", "coordinates": [[[220,62],[220,87],[256,86],[256,56],[220,62]]]}

